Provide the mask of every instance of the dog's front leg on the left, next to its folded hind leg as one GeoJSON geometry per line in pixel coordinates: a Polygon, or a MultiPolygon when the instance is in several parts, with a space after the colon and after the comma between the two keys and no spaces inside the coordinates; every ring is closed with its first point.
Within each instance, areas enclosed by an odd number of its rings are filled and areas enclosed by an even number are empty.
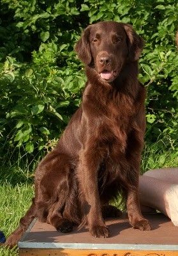
{"type": "Polygon", "coordinates": [[[82,150],[78,163],[78,181],[82,192],[84,214],[87,216],[89,232],[94,237],[108,237],[108,228],[102,217],[101,202],[98,192],[98,169],[100,156],[90,150],[82,150]]]}

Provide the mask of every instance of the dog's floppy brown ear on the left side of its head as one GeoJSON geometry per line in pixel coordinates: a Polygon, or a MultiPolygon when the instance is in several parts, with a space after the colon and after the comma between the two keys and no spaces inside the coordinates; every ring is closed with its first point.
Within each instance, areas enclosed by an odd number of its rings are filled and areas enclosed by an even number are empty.
{"type": "Polygon", "coordinates": [[[83,31],[80,40],[78,40],[77,44],[75,45],[75,51],[78,54],[78,58],[80,58],[80,60],[82,60],[86,65],[89,65],[92,60],[89,45],[90,27],[91,26],[88,26],[83,31]]]}

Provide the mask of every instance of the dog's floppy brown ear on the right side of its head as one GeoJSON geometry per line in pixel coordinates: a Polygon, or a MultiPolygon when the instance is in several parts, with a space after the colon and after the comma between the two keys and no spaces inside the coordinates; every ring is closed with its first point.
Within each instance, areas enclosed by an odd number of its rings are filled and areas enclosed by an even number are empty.
{"type": "Polygon", "coordinates": [[[124,29],[128,36],[128,59],[130,61],[138,60],[144,48],[144,40],[135,33],[131,25],[124,24],[124,29]]]}

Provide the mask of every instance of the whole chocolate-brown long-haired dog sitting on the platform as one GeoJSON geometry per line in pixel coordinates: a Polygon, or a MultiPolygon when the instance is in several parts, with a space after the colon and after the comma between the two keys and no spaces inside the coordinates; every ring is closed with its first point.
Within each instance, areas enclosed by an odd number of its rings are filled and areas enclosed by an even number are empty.
{"type": "Polygon", "coordinates": [[[6,244],[13,246],[35,216],[69,232],[88,225],[108,237],[102,211],[126,196],[134,228],[149,230],[140,212],[138,175],[145,132],[145,89],[138,82],[143,41],[128,24],[99,22],[84,30],[75,51],[85,63],[82,104],[57,147],[36,170],[33,204],[6,244]]]}

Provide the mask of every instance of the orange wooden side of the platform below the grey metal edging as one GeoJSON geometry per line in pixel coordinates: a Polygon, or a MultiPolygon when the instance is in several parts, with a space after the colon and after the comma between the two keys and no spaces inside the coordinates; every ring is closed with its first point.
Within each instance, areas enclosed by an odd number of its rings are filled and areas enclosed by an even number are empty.
{"type": "Polygon", "coordinates": [[[20,249],[20,256],[178,256],[178,251],[20,249]]]}

